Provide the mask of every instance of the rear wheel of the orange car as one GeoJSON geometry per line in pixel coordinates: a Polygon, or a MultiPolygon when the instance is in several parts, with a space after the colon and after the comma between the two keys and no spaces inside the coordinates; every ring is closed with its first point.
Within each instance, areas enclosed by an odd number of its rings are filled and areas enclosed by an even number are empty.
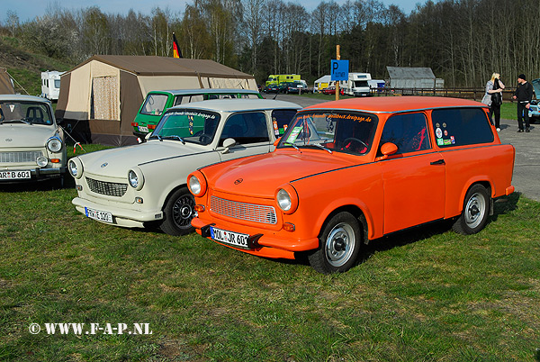
{"type": "Polygon", "coordinates": [[[464,200],[464,210],[454,222],[452,230],[458,234],[471,235],[481,231],[490,215],[491,198],[482,185],[473,185],[464,200]]]}

